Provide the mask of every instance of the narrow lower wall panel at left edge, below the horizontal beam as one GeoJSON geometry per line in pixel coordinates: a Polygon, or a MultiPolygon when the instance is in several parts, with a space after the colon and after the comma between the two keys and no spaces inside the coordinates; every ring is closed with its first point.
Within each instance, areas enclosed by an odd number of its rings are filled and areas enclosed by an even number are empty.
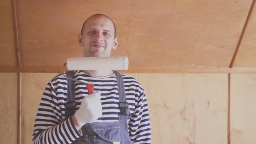
{"type": "Polygon", "coordinates": [[[17,144],[18,74],[0,73],[0,144],[17,144]]]}

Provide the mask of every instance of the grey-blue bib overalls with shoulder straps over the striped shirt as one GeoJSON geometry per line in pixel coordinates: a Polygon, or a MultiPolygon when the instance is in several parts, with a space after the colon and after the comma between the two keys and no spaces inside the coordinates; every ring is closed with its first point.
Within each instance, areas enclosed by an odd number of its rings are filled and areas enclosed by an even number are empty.
{"type": "MultiPolygon", "coordinates": [[[[126,102],[125,88],[122,75],[114,71],[117,77],[119,93],[119,120],[109,123],[87,123],[81,128],[83,136],[72,144],[133,144],[128,134],[128,116],[130,109],[126,102]]],[[[68,77],[74,78],[74,71],[67,72],[68,77]]],[[[74,81],[68,79],[66,115],[75,114],[75,90],[74,81]]]]}

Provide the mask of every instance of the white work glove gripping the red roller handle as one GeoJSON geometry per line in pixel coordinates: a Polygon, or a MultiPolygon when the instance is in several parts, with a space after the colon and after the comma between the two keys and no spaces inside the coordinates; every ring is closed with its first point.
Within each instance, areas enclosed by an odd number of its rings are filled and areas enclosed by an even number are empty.
{"type": "Polygon", "coordinates": [[[75,113],[75,118],[80,126],[85,123],[92,123],[102,115],[102,106],[99,91],[89,94],[82,99],[80,108],[75,113]]]}

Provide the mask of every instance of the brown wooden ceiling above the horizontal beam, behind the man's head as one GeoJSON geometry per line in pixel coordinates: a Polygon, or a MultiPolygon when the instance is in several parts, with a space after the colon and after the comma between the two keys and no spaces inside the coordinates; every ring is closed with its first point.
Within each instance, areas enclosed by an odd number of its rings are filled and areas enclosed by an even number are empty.
{"type": "Polygon", "coordinates": [[[2,1],[0,72],[61,72],[95,13],[115,22],[126,72],[256,72],[254,0],[2,1]]]}

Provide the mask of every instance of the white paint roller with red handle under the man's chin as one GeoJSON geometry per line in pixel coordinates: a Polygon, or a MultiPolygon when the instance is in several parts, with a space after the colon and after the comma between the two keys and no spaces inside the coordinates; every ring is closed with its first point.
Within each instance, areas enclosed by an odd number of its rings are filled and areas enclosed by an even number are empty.
{"type": "Polygon", "coordinates": [[[67,59],[67,63],[63,66],[63,75],[67,79],[74,80],[86,85],[88,94],[93,93],[94,85],[75,80],[71,77],[65,76],[65,65],[67,64],[68,70],[127,70],[128,57],[72,57],[67,59]]]}

